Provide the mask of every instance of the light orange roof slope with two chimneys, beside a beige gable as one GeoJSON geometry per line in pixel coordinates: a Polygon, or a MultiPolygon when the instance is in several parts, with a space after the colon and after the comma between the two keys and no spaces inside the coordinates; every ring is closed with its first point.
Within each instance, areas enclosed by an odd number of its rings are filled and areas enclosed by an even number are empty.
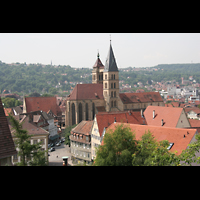
{"type": "Polygon", "coordinates": [[[148,125],[161,126],[163,119],[164,127],[176,127],[183,108],[148,106],[144,111],[144,116],[148,125]],[[155,118],[153,119],[153,110],[155,110],[155,118]]]}

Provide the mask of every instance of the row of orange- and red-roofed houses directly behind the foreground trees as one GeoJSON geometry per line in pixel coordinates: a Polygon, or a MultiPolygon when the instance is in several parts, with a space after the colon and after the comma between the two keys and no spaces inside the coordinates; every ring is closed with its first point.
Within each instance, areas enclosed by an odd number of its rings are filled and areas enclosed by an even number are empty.
{"type": "Polygon", "coordinates": [[[150,130],[158,141],[168,140],[173,144],[170,151],[176,150],[177,154],[195,141],[195,135],[198,134],[198,129],[191,126],[184,108],[148,106],[144,112],[99,112],[93,121],[82,121],[71,130],[73,163],[91,164],[96,157],[96,148],[102,145],[107,130],[121,123],[135,131],[136,139],[150,130]]]}

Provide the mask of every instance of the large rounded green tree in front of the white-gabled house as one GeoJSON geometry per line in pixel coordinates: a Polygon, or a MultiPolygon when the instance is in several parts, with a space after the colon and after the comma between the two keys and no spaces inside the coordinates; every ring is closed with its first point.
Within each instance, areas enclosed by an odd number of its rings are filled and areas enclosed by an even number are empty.
{"type": "Polygon", "coordinates": [[[96,166],[132,165],[132,154],[137,149],[137,141],[129,127],[119,125],[114,132],[109,130],[103,143],[97,149],[96,166]]]}

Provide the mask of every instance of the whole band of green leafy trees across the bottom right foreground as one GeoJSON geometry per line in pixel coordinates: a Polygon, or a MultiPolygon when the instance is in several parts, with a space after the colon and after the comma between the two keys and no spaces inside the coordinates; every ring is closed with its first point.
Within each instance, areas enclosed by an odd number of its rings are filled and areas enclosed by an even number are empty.
{"type": "Polygon", "coordinates": [[[180,155],[167,149],[167,140],[157,141],[150,131],[140,140],[129,127],[118,125],[115,131],[109,130],[104,136],[103,145],[97,148],[95,166],[180,166],[200,163],[196,153],[200,149],[200,135],[189,144],[180,155]]]}

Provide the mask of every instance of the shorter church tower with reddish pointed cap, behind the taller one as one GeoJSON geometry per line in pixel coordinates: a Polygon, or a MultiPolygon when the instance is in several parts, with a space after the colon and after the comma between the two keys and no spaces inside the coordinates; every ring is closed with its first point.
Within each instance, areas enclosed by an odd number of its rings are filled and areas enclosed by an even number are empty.
{"type": "Polygon", "coordinates": [[[103,70],[104,65],[102,64],[99,58],[99,52],[97,54],[97,60],[93,66],[92,70],[92,83],[100,83],[103,84],[103,70]]]}

